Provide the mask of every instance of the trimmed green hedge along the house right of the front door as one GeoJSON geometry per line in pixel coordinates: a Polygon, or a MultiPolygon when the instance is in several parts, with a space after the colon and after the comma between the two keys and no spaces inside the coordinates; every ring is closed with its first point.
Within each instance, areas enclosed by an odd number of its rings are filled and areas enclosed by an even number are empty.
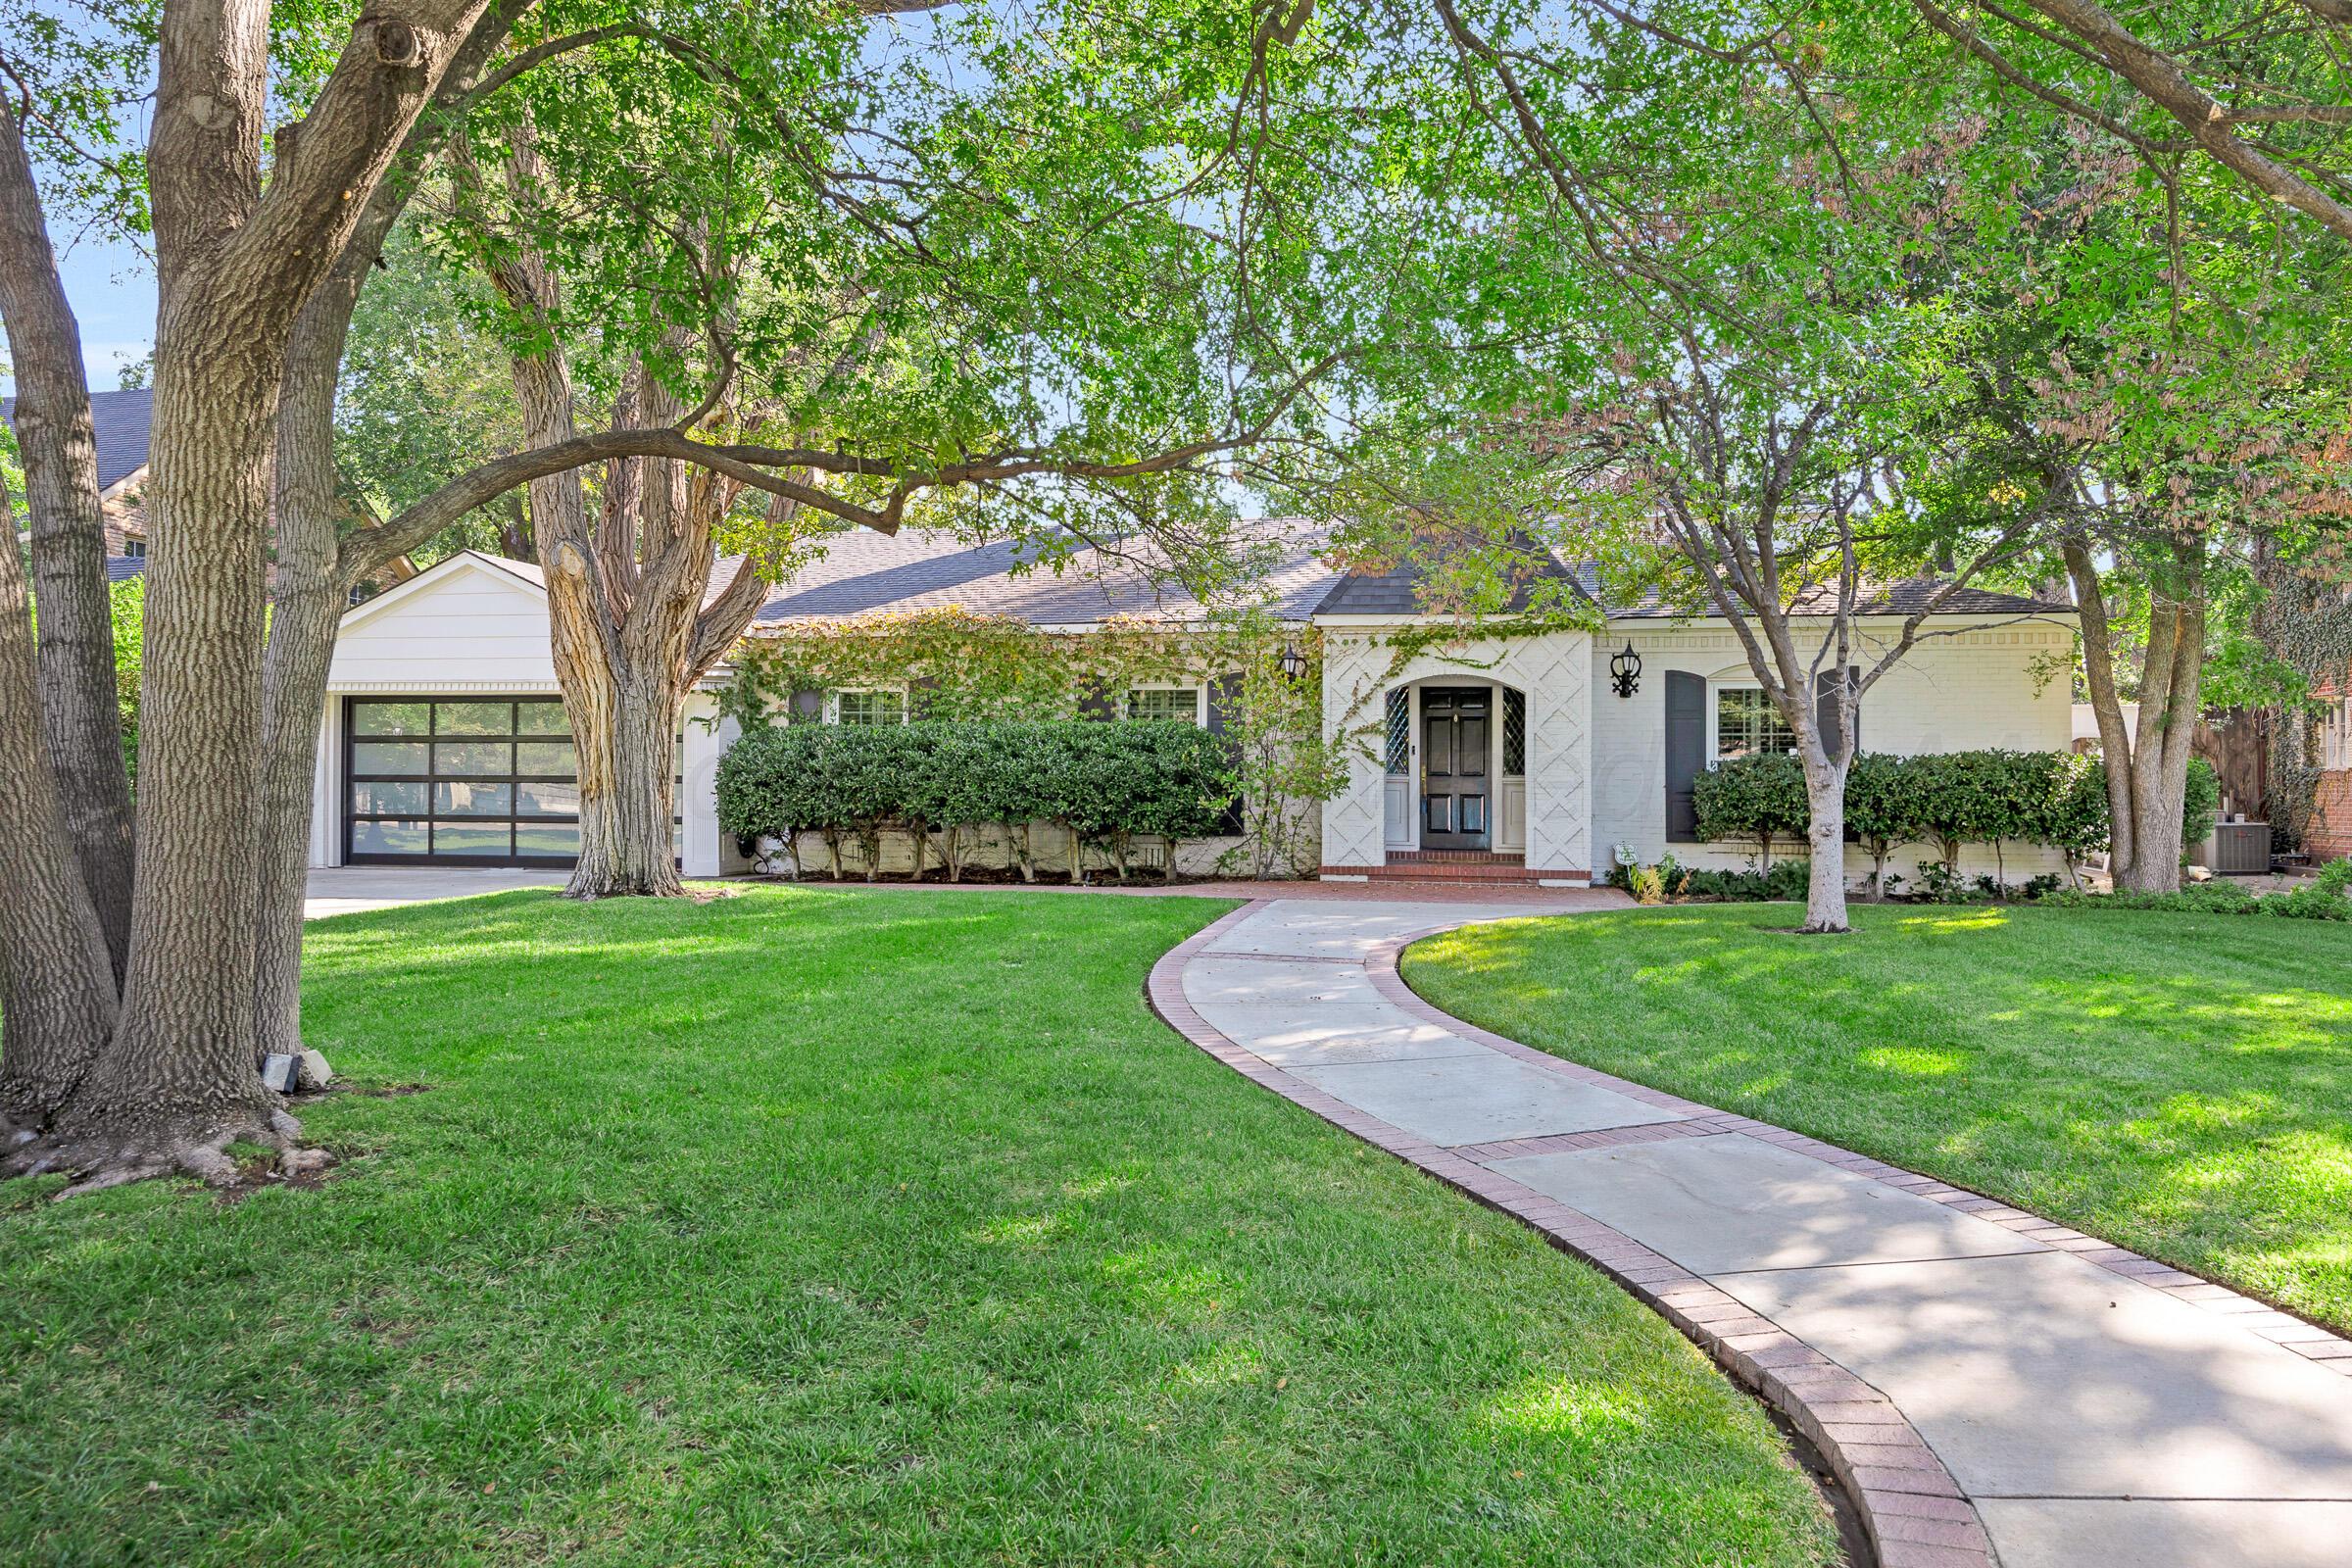
{"type": "MultiPolygon", "coordinates": [[[[1780,752],[1719,762],[1691,795],[1698,837],[1755,839],[1766,865],[1776,842],[1802,839],[1813,820],[1804,764],[1780,752]]],[[[2218,804],[2213,769],[2192,759],[2185,842],[2213,830],[2218,804]]],[[[1863,752],[1846,771],[1846,832],[1870,853],[1872,879],[1898,844],[1931,844],[1945,872],[1962,844],[2046,844],[2077,863],[2107,846],[2107,778],[2098,757],[2072,752],[1863,752]]]]}

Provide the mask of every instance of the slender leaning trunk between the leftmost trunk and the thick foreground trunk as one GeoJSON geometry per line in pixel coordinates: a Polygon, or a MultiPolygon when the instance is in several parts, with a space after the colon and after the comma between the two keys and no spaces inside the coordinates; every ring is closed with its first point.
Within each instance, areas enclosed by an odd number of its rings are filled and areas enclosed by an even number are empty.
{"type": "MultiPolygon", "coordinates": [[[[56,277],[12,103],[0,103],[0,317],[16,374],[12,425],[33,515],[42,729],[73,856],[120,983],[132,919],[132,792],[115,701],[99,447],[82,329],[56,277]]],[[[14,541],[7,548],[14,550],[14,541]]]]}

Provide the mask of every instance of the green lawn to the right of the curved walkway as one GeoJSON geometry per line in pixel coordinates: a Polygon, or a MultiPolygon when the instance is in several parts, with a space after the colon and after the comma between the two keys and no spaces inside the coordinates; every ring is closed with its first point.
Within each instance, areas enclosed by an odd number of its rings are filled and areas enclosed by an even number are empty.
{"type": "Polygon", "coordinates": [[[1430,938],[1437,1006],[2352,1331],[2352,931],[1682,905],[1430,938]]]}

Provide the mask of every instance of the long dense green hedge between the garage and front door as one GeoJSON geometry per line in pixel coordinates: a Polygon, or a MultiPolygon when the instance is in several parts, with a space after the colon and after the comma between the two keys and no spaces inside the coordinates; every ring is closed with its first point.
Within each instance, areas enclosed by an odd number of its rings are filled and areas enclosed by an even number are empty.
{"type": "Polygon", "coordinates": [[[835,877],[842,844],[858,844],[868,879],[884,832],[915,839],[915,877],[936,849],[957,879],[988,827],[1035,879],[1035,823],[1073,835],[1070,882],[1082,879],[1087,846],[1127,877],[1138,839],[1164,842],[1174,865],[1181,839],[1218,832],[1228,799],[1225,745],[1162,722],[788,724],[736,741],[717,778],[724,832],[776,839],[795,860],[800,835],[818,835],[835,877]]]}

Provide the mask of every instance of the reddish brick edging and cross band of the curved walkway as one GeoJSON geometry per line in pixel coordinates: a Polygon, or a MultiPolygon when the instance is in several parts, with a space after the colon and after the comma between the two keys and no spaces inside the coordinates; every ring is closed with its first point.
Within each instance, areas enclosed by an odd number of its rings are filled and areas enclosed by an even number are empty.
{"type": "MultiPolygon", "coordinates": [[[[2098,1237],[2086,1237],[2042,1215],[2013,1208],[1997,1199],[1952,1187],[1900,1166],[1853,1154],[1818,1138],[1792,1133],[1769,1121],[1722,1112],[1679,1095],[1632,1084],[1595,1067],[1583,1067],[1548,1051],[1536,1051],[1503,1034],[1479,1030],[1421,999],[1397,973],[1397,957],[1411,943],[1451,931],[1465,922],[1437,922],[1378,943],[1364,959],[1364,971],[1374,990],[1397,1009],[1423,1023],[1439,1025],[1463,1039],[1512,1060],[1557,1072],[1562,1077],[1609,1088],[1644,1105],[1672,1110],[1689,1121],[1665,1121],[1651,1126],[1609,1128],[1597,1133],[1555,1133],[1548,1138],[1517,1138],[1489,1145],[1439,1147],[1421,1135],[1406,1133],[1378,1117],[1371,1117],[1334,1095],[1315,1088],[1282,1067],[1268,1063],[1256,1051],[1235,1044],[1192,1011],[1183,992],[1185,966],[1218,936],[1240,922],[1258,914],[1272,900],[1251,900],[1240,910],[1211,922],[1152,964],[1145,994],[1152,1011],[1195,1046],[1225,1063],[1261,1088],[1301,1105],[1324,1121],[1355,1133],[1404,1159],[1449,1187],[1531,1225],[1555,1246],[1590,1262],[1635,1300],[1658,1312],[1708,1352],[1736,1382],[1764,1399],[1790,1425],[1811,1439],[1830,1465],[1830,1474],[1846,1490],[1860,1514],[1870,1544],[1879,1554],[1882,1568],[1994,1568],[1994,1556],[1973,1502],[1952,1481],[1936,1450],[1912,1429],[1900,1408],[1877,1387],[1863,1382],[1823,1352],[1797,1335],[1757,1316],[1750,1307],[1691,1274],[1665,1255],[1642,1246],[1632,1237],[1602,1225],[1599,1220],[1526,1187],[1494,1168],[1491,1161],[1524,1154],[1550,1154],[1564,1150],[1592,1150],[1625,1143],[1656,1143],[1663,1138],[1693,1138],[1708,1133],[1745,1133],[1759,1143],[1820,1159],[1839,1171],[1900,1187],[1915,1197],[1933,1199],[1962,1213],[1990,1220],[2030,1237],[2051,1248],[2074,1253],[2084,1262],[2096,1262],[2119,1276],[2154,1286],[2169,1295],[2194,1302],[2206,1312],[2232,1319],[2277,1345],[2352,1375],[2352,1342],[2305,1324],[2265,1302],[2249,1300],[2227,1286],[2211,1284],[2171,1265],[2143,1258],[2098,1237]]],[[[1249,954],[1221,954],[1249,957],[1249,954]]],[[[1352,964],[1357,959],[1338,959],[1352,964]]]]}

